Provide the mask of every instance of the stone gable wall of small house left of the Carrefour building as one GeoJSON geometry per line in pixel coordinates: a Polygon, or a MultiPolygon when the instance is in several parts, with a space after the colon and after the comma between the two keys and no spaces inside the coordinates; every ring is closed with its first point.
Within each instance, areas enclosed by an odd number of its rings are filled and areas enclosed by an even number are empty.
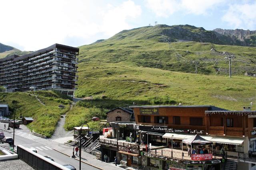
{"type": "Polygon", "coordinates": [[[131,114],[123,111],[122,109],[115,109],[113,111],[108,112],[107,114],[107,122],[118,122],[116,121],[116,117],[122,117],[119,122],[129,122],[131,114]],[[120,112],[120,113],[118,113],[120,112]]]}

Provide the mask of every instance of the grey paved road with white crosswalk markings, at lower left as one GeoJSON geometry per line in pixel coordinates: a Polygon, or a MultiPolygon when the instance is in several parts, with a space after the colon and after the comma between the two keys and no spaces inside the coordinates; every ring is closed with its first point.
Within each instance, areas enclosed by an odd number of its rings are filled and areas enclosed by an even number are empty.
{"type": "MultiPolygon", "coordinates": [[[[0,128],[4,129],[4,123],[0,123],[0,128]]],[[[13,129],[10,128],[12,131],[13,129]]],[[[6,137],[13,137],[13,133],[9,133],[4,131],[4,135],[6,137]]],[[[42,139],[40,137],[36,137],[34,135],[29,134],[25,129],[15,129],[15,137],[14,137],[14,149],[16,150],[17,145],[22,145],[24,147],[30,148],[30,149],[36,149],[38,150],[38,154],[41,154],[42,156],[50,156],[52,159],[54,159],[55,162],[64,165],[64,164],[70,164],[74,166],[77,170],[79,169],[79,161],[70,158],[69,156],[66,156],[60,152],[57,152],[56,150],[53,150],[50,148],[51,141],[48,139],[42,139]]],[[[70,153],[71,155],[72,153],[70,153]]],[[[94,168],[92,166],[89,166],[88,164],[81,163],[81,169],[82,170],[98,170],[97,168],[94,168]]]]}

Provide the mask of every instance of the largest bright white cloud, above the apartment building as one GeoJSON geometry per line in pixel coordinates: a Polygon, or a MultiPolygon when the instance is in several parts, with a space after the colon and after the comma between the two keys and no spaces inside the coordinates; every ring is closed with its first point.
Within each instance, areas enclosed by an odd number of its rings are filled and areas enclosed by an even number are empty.
{"type": "Polygon", "coordinates": [[[106,1],[8,0],[0,2],[0,42],[37,50],[54,43],[84,45],[130,29],[130,19],[141,15],[140,6],[128,0],[106,1]],[[72,40],[77,40],[77,43],[72,40]]]}

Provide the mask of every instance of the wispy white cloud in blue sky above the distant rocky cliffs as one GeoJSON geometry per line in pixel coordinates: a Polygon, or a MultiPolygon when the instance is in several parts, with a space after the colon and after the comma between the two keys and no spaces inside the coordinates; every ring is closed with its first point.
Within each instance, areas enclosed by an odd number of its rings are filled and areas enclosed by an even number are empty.
{"type": "Polygon", "coordinates": [[[227,22],[234,28],[255,29],[256,26],[256,3],[230,5],[222,21],[227,22]]]}

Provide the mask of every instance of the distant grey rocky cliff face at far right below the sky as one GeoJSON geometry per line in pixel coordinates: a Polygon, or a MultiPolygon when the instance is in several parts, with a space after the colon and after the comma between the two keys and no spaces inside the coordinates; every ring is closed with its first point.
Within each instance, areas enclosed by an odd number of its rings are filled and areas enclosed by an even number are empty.
{"type": "Polygon", "coordinates": [[[213,31],[222,35],[227,35],[232,38],[236,43],[240,43],[242,46],[256,47],[256,30],[250,31],[243,29],[221,29],[216,28],[213,31]]]}

